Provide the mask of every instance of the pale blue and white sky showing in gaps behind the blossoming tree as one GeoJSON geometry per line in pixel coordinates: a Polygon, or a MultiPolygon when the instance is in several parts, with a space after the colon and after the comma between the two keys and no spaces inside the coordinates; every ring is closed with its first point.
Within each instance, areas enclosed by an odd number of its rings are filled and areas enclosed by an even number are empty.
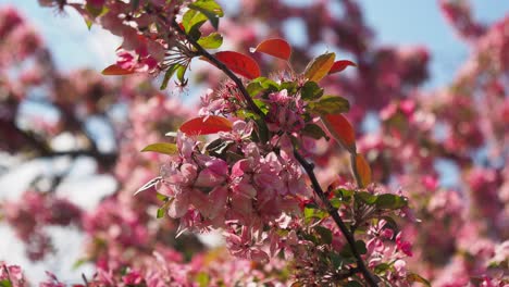
{"type": "MultiPolygon", "coordinates": [[[[231,3],[229,1],[233,0],[224,0],[223,2],[231,3]]],[[[238,0],[236,1],[238,3],[238,0]]],[[[308,2],[306,0],[286,1],[308,2]]],[[[474,0],[472,2],[475,8],[475,16],[486,23],[509,13],[509,0],[474,0]]],[[[369,25],[376,33],[377,43],[424,45],[430,48],[432,79],[427,87],[439,87],[454,78],[456,70],[468,55],[468,47],[454,35],[452,29],[446,24],[438,10],[437,1],[360,0],[360,3],[364,9],[364,16],[369,25]]],[[[72,70],[87,66],[101,71],[115,61],[114,50],[120,45],[120,39],[97,27],[92,27],[89,32],[74,11],[70,11],[67,15],[55,15],[54,10],[38,7],[36,0],[0,0],[0,7],[4,4],[14,5],[22,10],[33,25],[41,32],[45,41],[53,51],[57,65],[60,68],[72,70]]],[[[48,166],[38,166],[37,169],[44,170],[48,166]]],[[[20,172],[37,172],[37,169],[32,166],[20,172]]],[[[446,170],[451,171],[450,167],[446,170]]],[[[28,176],[25,173],[20,177],[26,179],[28,176]]],[[[97,179],[95,180],[97,183],[97,179]]],[[[108,180],[103,183],[103,189],[108,189],[110,184],[108,180]]],[[[9,194],[12,194],[13,188],[18,190],[24,188],[23,186],[15,188],[12,182],[7,183],[5,180],[0,180],[1,186],[9,186],[9,194]]],[[[7,194],[2,195],[1,190],[2,188],[0,188],[0,198],[7,194]]],[[[100,199],[99,196],[98,194],[92,201],[97,202],[100,199]]],[[[75,198],[80,202],[91,202],[90,192],[83,192],[83,190],[75,190],[70,198],[75,198]],[[86,196],[87,199],[79,198],[79,196],[86,196]]],[[[78,271],[59,270],[61,266],[71,266],[73,260],[78,257],[83,238],[77,233],[71,234],[71,238],[69,233],[57,237],[57,239],[63,240],[63,244],[57,246],[67,244],[66,248],[59,251],[60,255],[37,264],[32,264],[22,257],[23,246],[14,237],[12,230],[0,226],[0,235],[2,238],[8,238],[8,241],[0,246],[0,260],[5,257],[11,262],[24,265],[30,271],[28,276],[32,279],[45,277],[45,270],[55,272],[63,279],[78,278],[80,272],[87,273],[86,269],[78,271]],[[65,259],[69,264],[62,264],[62,259],[65,259]]]]}

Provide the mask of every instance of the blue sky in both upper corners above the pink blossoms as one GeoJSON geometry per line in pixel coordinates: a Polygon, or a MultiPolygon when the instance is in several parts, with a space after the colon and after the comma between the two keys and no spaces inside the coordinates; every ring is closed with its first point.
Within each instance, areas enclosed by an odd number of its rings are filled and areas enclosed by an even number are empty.
{"type": "MultiPolygon", "coordinates": [[[[306,3],[306,0],[286,0],[306,3]]],[[[229,1],[223,1],[232,3],[229,1]]],[[[235,2],[235,1],[234,1],[235,2]]],[[[509,1],[473,0],[474,13],[491,23],[509,13],[509,1]]],[[[376,32],[380,45],[424,45],[432,53],[427,87],[439,87],[454,77],[468,55],[468,47],[447,25],[435,0],[360,0],[369,25],[376,32]]],[[[55,15],[54,10],[41,9],[35,0],[0,0],[21,9],[39,28],[54,52],[57,64],[64,70],[88,66],[100,71],[114,62],[114,49],[120,40],[97,27],[89,32],[74,11],[55,15]]],[[[238,3],[234,4],[238,7],[238,3]]]]}

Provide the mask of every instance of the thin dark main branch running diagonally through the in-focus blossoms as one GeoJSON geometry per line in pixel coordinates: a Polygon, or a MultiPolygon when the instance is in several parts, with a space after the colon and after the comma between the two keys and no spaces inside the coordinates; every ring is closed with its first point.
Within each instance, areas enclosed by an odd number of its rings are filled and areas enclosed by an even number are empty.
{"type": "MultiPolygon", "coordinates": [[[[172,27],[175,30],[177,30],[177,33],[179,35],[182,35],[197,50],[196,51],[197,55],[204,57],[209,62],[214,64],[219,70],[221,70],[224,74],[226,74],[237,85],[238,89],[240,90],[244,99],[246,100],[246,102],[248,104],[248,109],[250,109],[252,112],[254,112],[256,114],[258,114],[262,118],[265,117],[263,112],[252,101],[251,96],[249,96],[249,92],[246,90],[246,87],[244,86],[244,83],[240,80],[240,78],[238,78],[225,64],[223,64],[221,61],[215,59],[214,55],[212,55],[206,49],[203,49],[203,47],[201,47],[197,41],[191,39],[189,37],[189,35],[187,35],[184,30],[182,30],[181,27],[178,26],[178,24],[175,22],[175,20],[172,20],[172,27]]],[[[316,179],[316,176],[314,175],[314,172],[313,172],[314,165],[307,162],[306,159],[297,150],[294,150],[294,155],[297,159],[297,161],[300,163],[300,165],[302,165],[302,167],[305,169],[305,171],[308,174],[309,178],[311,179],[311,184],[312,184],[314,192],[320,197],[322,202],[325,204],[325,208],[326,208],[328,214],[333,217],[334,222],[337,224],[337,226],[342,230],[343,235],[347,239],[348,245],[350,246],[351,251],[353,253],[353,257],[357,260],[357,267],[353,269],[353,270],[355,271],[359,270],[362,273],[362,275],[364,276],[368,284],[370,286],[376,287],[377,286],[377,284],[376,284],[377,279],[368,270],[368,267],[364,264],[364,261],[362,260],[362,258],[361,258],[361,255],[359,253],[359,250],[357,250],[356,239],[353,237],[353,234],[348,230],[348,227],[343,222],[342,217],[337,213],[337,210],[331,204],[327,197],[323,192],[322,187],[320,187],[320,184],[319,184],[319,182],[316,179]]],[[[353,154],[353,157],[355,157],[355,154],[353,154]]],[[[353,166],[353,169],[355,169],[353,171],[356,173],[355,163],[352,163],[352,166],[353,166]]],[[[358,176],[358,174],[356,175],[356,179],[357,179],[358,184],[361,183],[360,182],[360,176],[358,176]]]]}

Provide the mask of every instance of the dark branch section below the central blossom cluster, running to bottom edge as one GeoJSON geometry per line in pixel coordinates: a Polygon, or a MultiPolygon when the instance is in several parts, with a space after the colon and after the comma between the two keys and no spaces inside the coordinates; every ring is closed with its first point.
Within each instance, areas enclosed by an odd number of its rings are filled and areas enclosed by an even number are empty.
{"type": "Polygon", "coordinates": [[[339,213],[337,213],[337,209],[335,209],[331,202],[328,201],[327,197],[322,190],[322,187],[320,186],[316,176],[314,175],[313,169],[314,165],[312,163],[309,163],[306,161],[306,159],[297,151],[294,150],[294,155],[297,159],[297,161],[302,165],[305,169],[306,173],[309,176],[309,179],[311,179],[311,185],[313,186],[314,192],[320,197],[322,200],[323,204],[325,204],[325,209],[327,210],[327,213],[331,214],[333,217],[334,222],[337,224],[339,229],[342,230],[343,235],[348,241],[348,245],[351,248],[351,252],[353,253],[353,257],[357,260],[357,266],[360,269],[360,272],[362,275],[364,275],[365,280],[369,283],[370,286],[376,287],[376,278],[371,274],[371,272],[368,270],[368,267],[364,264],[364,261],[362,260],[359,250],[357,250],[356,247],[356,238],[353,237],[353,234],[351,234],[348,230],[348,227],[345,225],[343,222],[342,217],[339,216],[339,213]]]}

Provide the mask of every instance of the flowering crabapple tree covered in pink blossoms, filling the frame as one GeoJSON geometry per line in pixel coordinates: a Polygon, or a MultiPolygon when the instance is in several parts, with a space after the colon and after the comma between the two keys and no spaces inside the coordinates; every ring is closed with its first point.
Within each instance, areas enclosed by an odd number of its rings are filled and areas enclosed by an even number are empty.
{"type": "MultiPolygon", "coordinates": [[[[89,236],[84,261],[97,270],[79,286],[507,284],[507,18],[484,26],[467,2],[440,1],[475,49],[449,88],[427,96],[415,91],[427,77],[426,50],[373,47],[352,1],[340,1],[342,17],[327,12],[328,1],[307,8],[246,1],[233,22],[211,0],[39,2],[72,7],[87,25],[122,37],[117,61],[103,74],[128,76],[111,83],[90,72],[61,75],[34,34],[30,49],[10,58],[34,58],[38,74],[32,82],[25,72],[5,77],[2,107],[18,111],[33,100],[28,88],[42,86],[62,118],[40,132],[21,128],[16,113],[8,114],[2,133],[20,140],[5,150],[91,157],[119,183],[94,211],[52,192],[65,175],[53,176],[46,192],[29,190],[4,203],[4,219],[32,258],[51,250],[45,225],[73,223],[89,236]],[[290,47],[281,35],[291,16],[302,18],[310,47],[324,37],[355,61],[290,47]],[[266,35],[256,35],[252,23],[266,23],[266,35]],[[254,47],[252,57],[220,50],[223,37],[237,51],[254,47]],[[201,75],[189,71],[199,60],[210,64],[201,75]],[[336,74],[348,66],[357,74],[336,74]],[[174,88],[172,78],[188,85],[195,73],[212,88],[198,114],[169,101],[147,77],[161,74],[164,90],[174,88]],[[113,121],[115,104],[127,104],[128,120],[115,127],[117,151],[103,153],[86,120],[113,121]],[[370,112],[380,120],[376,134],[360,128],[370,112]],[[45,138],[62,132],[85,142],[55,151],[45,138]],[[464,186],[440,185],[438,160],[464,173],[464,186]],[[213,229],[232,257],[196,240],[213,229]]],[[[3,13],[10,21],[0,32],[20,41],[12,26],[25,24],[14,11],[3,13]]],[[[0,272],[2,284],[26,284],[17,266],[5,263],[0,272]]],[[[41,284],[64,285],[52,274],[41,284]]]]}

